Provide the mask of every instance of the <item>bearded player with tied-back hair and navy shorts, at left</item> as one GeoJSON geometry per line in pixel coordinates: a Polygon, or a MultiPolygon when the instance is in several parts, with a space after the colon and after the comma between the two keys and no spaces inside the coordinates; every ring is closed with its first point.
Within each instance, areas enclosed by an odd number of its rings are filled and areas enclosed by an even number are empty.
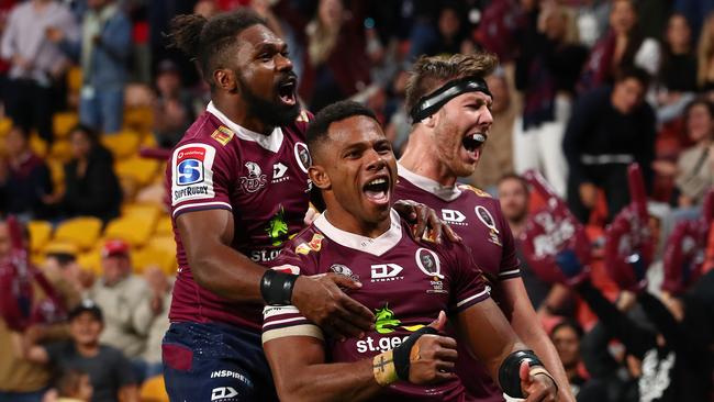
{"type": "MultiPolygon", "coordinates": [[[[309,204],[310,114],[298,105],[285,42],[248,9],[177,16],[171,40],[198,62],[212,101],[166,172],[179,264],[163,344],[166,386],[175,401],[274,400],[260,347],[266,302],[294,304],[343,336],[369,330],[373,315],[339,289],[360,286],[347,277],[270,281],[259,265],[303,227],[309,204]]],[[[421,231],[426,209],[402,206],[421,231]]]]}

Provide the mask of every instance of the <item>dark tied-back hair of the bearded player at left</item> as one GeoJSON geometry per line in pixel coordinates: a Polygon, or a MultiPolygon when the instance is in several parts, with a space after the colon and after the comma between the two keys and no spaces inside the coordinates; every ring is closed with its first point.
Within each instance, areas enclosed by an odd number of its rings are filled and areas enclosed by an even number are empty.
{"type": "Polygon", "coordinates": [[[249,8],[220,13],[207,20],[202,15],[177,15],[170,23],[170,46],[183,52],[199,63],[203,79],[211,86],[213,71],[225,66],[230,52],[237,44],[237,35],[253,25],[266,21],[249,8]]]}

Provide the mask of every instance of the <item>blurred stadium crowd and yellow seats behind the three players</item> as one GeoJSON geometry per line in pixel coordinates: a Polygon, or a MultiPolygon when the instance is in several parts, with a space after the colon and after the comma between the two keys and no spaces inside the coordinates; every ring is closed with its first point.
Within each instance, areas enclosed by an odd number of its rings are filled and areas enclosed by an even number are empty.
{"type": "MultiPolygon", "coordinates": [[[[498,56],[493,124],[459,181],[500,201],[576,400],[714,401],[714,2],[8,0],[0,213],[26,227],[38,269],[14,292],[19,273],[0,270],[1,303],[27,298],[32,311],[0,320],[0,402],[168,400],[161,339],[178,263],[159,159],[211,100],[168,33],[175,15],[236,8],[288,44],[304,109],[368,107],[398,157],[414,62],[498,56]],[[633,279],[607,247],[637,203],[635,163],[651,255],[633,279]],[[589,264],[558,255],[566,273],[554,279],[534,261],[543,211],[582,228],[589,264]],[[694,226],[704,233],[672,257],[694,226]]],[[[11,235],[0,223],[5,259],[11,235]]]]}

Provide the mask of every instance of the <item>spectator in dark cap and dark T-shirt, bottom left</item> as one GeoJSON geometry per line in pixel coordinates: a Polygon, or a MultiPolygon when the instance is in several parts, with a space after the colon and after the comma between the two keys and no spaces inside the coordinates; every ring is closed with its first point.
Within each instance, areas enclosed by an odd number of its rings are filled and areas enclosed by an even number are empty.
{"type": "Polygon", "coordinates": [[[47,345],[25,343],[23,354],[31,361],[48,364],[60,371],[88,372],[92,402],[137,402],[132,366],[120,350],[100,343],[103,330],[101,309],[85,300],[69,313],[70,339],[47,345]]]}

